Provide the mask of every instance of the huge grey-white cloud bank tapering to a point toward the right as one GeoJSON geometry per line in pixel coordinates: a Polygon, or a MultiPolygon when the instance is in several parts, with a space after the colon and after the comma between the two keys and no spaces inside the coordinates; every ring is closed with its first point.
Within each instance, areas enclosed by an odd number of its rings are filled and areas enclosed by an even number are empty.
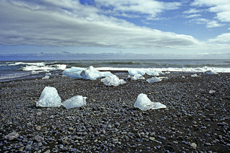
{"type": "MultiPolygon", "coordinates": [[[[73,0],[20,2],[16,5],[1,0],[1,45],[188,48],[199,43],[192,36],[138,27],[100,15],[97,8],[73,0]],[[35,6],[36,10],[31,9],[35,6]]],[[[134,5],[130,11],[139,9],[134,5]]]]}

